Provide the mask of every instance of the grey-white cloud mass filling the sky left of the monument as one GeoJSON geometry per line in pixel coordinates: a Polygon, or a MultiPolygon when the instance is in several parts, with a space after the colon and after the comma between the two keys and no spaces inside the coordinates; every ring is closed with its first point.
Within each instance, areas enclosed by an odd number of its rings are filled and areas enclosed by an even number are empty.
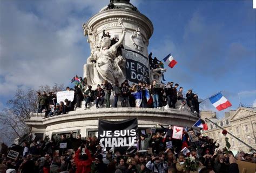
{"type": "Polygon", "coordinates": [[[108,3],[1,1],[0,95],[82,75],[90,54],[82,24],[108,3]]]}

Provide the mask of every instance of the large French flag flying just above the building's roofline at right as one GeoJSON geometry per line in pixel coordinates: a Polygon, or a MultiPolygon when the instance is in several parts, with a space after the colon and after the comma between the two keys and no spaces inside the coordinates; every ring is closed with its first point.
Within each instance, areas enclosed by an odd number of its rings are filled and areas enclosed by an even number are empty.
{"type": "Polygon", "coordinates": [[[213,104],[214,107],[216,107],[216,109],[218,111],[224,110],[227,107],[232,106],[232,104],[230,103],[230,101],[228,101],[226,99],[226,97],[224,97],[221,92],[217,93],[216,95],[212,96],[209,98],[211,103],[213,104]]]}

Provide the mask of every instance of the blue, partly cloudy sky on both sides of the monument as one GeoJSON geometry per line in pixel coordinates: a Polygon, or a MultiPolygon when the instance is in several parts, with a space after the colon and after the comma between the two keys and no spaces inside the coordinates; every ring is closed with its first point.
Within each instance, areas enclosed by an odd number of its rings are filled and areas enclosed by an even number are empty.
{"type": "MultiPolygon", "coordinates": [[[[223,91],[235,110],[256,106],[255,9],[252,1],[131,0],[153,23],[148,51],[178,62],[166,81],[199,98],[223,91]]],[[[18,88],[72,86],[83,75],[90,47],[82,24],[107,0],[0,1],[0,110],[18,88]]],[[[215,108],[205,100],[201,110],[215,108]]]]}

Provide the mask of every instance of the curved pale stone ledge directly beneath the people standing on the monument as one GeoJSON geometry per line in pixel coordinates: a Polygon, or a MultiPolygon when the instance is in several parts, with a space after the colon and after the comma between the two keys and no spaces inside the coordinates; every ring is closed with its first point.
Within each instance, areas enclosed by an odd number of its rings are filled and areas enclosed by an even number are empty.
{"type": "Polygon", "coordinates": [[[92,110],[81,110],[72,111],[68,114],[63,114],[60,116],[54,116],[50,118],[43,119],[33,119],[37,114],[31,113],[30,120],[25,120],[28,125],[43,125],[49,126],[53,124],[59,124],[62,122],[71,121],[81,121],[81,120],[97,120],[97,119],[129,119],[136,118],[139,119],[166,119],[166,124],[172,121],[191,121],[193,124],[198,120],[196,116],[190,112],[183,110],[155,110],[149,108],[134,108],[134,107],[118,107],[118,108],[102,108],[102,109],[92,109],[92,110]]]}

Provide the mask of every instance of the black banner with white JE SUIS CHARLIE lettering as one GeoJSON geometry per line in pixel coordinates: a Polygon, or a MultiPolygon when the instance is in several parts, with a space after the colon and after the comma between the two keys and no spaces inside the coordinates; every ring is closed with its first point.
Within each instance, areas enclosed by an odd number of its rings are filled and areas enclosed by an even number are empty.
{"type": "Polygon", "coordinates": [[[136,152],[138,120],[106,121],[99,120],[98,139],[106,150],[114,149],[120,153],[136,152]]]}

